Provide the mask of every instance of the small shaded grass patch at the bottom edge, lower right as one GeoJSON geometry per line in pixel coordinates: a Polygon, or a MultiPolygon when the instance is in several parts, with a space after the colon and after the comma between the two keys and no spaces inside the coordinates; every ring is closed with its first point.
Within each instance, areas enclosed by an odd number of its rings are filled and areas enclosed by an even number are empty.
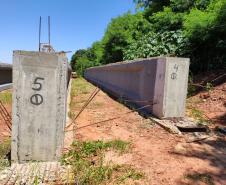
{"type": "Polygon", "coordinates": [[[214,185],[213,179],[209,174],[194,173],[186,175],[185,178],[193,181],[194,184],[199,184],[198,182],[203,182],[207,185],[214,185]]]}

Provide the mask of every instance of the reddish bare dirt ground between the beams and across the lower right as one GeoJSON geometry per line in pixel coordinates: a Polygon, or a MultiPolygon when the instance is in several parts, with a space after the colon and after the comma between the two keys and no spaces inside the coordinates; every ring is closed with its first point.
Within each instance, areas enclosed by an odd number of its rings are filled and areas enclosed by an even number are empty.
{"type": "MultiPolygon", "coordinates": [[[[81,86],[83,91],[77,89],[72,92],[71,112],[74,114],[95,89],[88,82],[83,83],[87,86],[81,86]]],[[[117,156],[109,153],[106,157],[143,171],[146,174],[145,184],[226,184],[224,135],[214,134],[208,139],[187,143],[184,135],[170,134],[136,112],[125,114],[128,111],[131,110],[100,91],[77,119],[75,138],[130,141],[133,148],[129,154],[117,156]]]]}

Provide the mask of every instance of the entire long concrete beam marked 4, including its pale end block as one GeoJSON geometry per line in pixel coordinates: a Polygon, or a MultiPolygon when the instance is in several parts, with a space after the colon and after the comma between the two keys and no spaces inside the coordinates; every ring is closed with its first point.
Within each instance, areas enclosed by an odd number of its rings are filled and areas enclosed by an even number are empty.
{"type": "Polygon", "coordinates": [[[158,118],[183,117],[189,59],[156,57],[89,68],[85,78],[158,118]]]}

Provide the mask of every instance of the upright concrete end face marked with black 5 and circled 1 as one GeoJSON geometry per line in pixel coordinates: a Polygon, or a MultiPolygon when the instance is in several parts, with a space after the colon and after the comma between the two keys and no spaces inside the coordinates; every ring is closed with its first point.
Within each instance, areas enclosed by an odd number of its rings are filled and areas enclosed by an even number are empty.
{"type": "Polygon", "coordinates": [[[55,161],[66,122],[65,55],[14,51],[12,161],[55,161]]]}

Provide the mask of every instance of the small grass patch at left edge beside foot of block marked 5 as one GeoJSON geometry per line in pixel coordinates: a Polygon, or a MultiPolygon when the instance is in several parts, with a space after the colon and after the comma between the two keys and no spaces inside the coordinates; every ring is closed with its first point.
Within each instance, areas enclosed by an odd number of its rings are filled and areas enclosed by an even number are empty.
{"type": "Polygon", "coordinates": [[[10,152],[10,140],[4,140],[0,143],[0,170],[5,169],[6,167],[10,166],[10,162],[7,159],[7,155],[10,152]]]}

